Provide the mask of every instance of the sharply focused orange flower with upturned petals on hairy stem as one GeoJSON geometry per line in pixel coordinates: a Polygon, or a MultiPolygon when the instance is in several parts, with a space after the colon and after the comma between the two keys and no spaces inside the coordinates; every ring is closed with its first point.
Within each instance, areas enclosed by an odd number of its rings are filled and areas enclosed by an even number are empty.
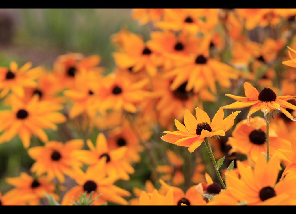
{"type": "Polygon", "coordinates": [[[220,107],[211,122],[207,113],[200,108],[195,108],[196,119],[187,109],[184,116],[185,126],[175,119],[175,125],[179,131],[164,132],[167,134],[161,139],[178,146],[188,147],[189,152],[192,153],[202,144],[205,137],[225,136],[225,132],[233,126],[234,118],[239,112],[231,113],[231,115],[223,119],[224,111],[220,107]]]}

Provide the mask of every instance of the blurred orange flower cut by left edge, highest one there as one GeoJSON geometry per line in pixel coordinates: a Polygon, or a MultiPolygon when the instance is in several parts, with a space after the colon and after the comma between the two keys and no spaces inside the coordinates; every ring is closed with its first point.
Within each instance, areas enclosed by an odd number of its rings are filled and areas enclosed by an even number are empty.
{"type": "Polygon", "coordinates": [[[25,87],[36,87],[34,81],[41,72],[41,67],[30,69],[32,64],[27,62],[18,68],[15,61],[10,63],[9,68],[0,67],[0,98],[5,97],[11,90],[18,97],[25,95],[25,87]]]}

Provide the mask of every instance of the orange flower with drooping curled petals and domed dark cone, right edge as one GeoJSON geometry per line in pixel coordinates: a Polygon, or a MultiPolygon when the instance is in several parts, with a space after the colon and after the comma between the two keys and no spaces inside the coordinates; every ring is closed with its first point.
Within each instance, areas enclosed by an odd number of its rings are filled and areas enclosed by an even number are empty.
{"type": "Polygon", "coordinates": [[[250,124],[250,116],[256,111],[261,110],[264,113],[264,116],[268,114],[271,110],[279,110],[285,114],[289,119],[296,121],[296,119],[285,109],[290,108],[296,110],[296,106],[287,102],[287,100],[295,99],[294,96],[285,95],[285,96],[276,96],[276,93],[270,88],[264,88],[258,92],[258,90],[253,87],[250,83],[244,83],[244,94],[246,97],[239,97],[231,94],[226,94],[226,96],[238,100],[223,108],[244,108],[252,106],[247,115],[247,124],[250,124]]]}

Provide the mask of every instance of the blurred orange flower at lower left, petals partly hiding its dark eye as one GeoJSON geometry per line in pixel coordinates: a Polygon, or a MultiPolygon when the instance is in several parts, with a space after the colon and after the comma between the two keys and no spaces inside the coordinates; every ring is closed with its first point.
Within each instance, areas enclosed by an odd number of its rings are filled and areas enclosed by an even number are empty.
{"type": "Polygon", "coordinates": [[[96,167],[100,162],[106,162],[102,169],[106,174],[126,181],[130,179],[128,174],[135,172],[134,168],[125,159],[127,152],[126,146],[110,151],[103,133],[98,134],[96,147],[89,139],[86,143],[90,151],[78,150],[73,155],[81,162],[90,165],[89,168],[96,167]]]}

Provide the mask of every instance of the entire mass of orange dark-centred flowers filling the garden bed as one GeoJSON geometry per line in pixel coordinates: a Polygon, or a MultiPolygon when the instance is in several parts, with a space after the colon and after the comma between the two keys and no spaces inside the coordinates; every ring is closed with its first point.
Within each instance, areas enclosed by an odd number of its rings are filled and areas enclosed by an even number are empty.
{"type": "Polygon", "coordinates": [[[99,56],[80,53],[59,56],[52,71],[0,68],[0,143],[18,136],[35,161],[31,176],[6,178],[14,188],[0,205],[38,205],[45,193],[71,205],[84,192],[93,205],[296,205],[296,9],[133,9],[132,17],[149,25],[150,40],[112,35],[110,74],[99,56]],[[224,118],[233,108],[241,111],[224,118]],[[213,170],[197,149],[203,142],[213,170]],[[142,152],[151,164],[160,159],[156,150],[166,159],[153,163],[157,182],[133,188],[131,199],[115,182],[140,170],[142,152]]]}

